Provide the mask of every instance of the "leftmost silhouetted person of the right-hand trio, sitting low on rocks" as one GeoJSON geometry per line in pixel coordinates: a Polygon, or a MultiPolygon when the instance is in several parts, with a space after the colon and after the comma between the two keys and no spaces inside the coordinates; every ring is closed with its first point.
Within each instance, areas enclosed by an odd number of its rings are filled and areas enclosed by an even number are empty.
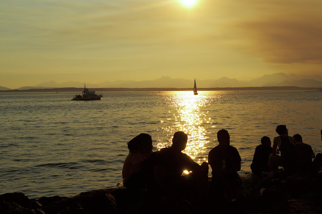
{"type": "Polygon", "coordinates": [[[271,147],[271,139],[264,136],[261,139],[261,145],[257,146],[254,153],[253,163],[251,169],[254,174],[267,175],[269,172],[268,160],[270,154],[272,154],[273,148],[271,147]]]}

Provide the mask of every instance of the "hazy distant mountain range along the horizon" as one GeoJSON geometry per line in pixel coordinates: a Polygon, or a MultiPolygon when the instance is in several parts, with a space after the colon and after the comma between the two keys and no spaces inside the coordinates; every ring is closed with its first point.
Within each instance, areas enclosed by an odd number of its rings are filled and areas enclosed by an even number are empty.
{"type": "MultiPolygon", "coordinates": [[[[297,87],[320,87],[322,88],[322,76],[320,75],[295,75],[285,73],[275,73],[264,75],[249,81],[240,81],[227,77],[219,79],[196,79],[198,88],[214,87],[266,87],[266,86],[297,86],[297,87]]],[[[86,83],[89,88],[189,88],[193,87],[193,80],[182,78],[171,78],[163,76],[153,80],[116,80],[104,81],[101,83],[86,83]]],[[[54,81],[42,82],[34,86],[25,86],[20,90],[34,88],[65,88],[65,87],[83,87],[84,82],[62,82],[54,81]]],[[[1,87],[0,90],[10,90],[11,88],[1,87]]]]}

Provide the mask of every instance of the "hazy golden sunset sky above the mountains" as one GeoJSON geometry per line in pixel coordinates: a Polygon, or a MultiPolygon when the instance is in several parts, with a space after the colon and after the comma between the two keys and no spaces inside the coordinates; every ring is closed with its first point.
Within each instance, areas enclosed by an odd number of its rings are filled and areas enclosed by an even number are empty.
{"type": "Polygon", "coordinates": [[[0,86],[322,74],[322,1],[2,0],[0,86]]]}

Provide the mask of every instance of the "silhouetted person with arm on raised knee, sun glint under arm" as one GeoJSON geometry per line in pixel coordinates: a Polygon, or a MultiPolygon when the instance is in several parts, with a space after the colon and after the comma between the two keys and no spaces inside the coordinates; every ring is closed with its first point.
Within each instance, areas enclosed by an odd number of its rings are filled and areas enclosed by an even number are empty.
{"type": "Polygon", "coordinates": [[[186,148],[187,141],[186,133],[176,132],[172,139],[172,146],[163,148],[155,154],[155,182],[163,194],[189,197],[192,190],[201,200],[202,197],[206,197],[208,189],[208,163],[203,162],[200,166],[187,154],[181,152],[186,148]],[[183,176],[184,170],[192,173],[183,176]]]}

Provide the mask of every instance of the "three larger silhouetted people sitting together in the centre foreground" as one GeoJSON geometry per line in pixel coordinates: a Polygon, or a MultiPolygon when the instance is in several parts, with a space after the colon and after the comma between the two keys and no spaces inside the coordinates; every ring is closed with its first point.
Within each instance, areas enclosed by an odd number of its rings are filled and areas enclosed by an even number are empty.
{"type": "Polygon", "coordinates": [[[212,168],[209,182],[208,163],[199,165],[182,153],[187,146],[186,133],[176,132],[171,147],[157,152],[152,152],[151,136],[139,134],[128,142],[129,154],[122,170],[124,186],[184,198],[197,207],[206,207],[209,199],[221,204],[234,203],[241,187],[237,173],[241,158],[237,149],[229,145],[230,136],[226,130],[220,130],[217,138],[219,145],[208,156],[212,168]]]}

